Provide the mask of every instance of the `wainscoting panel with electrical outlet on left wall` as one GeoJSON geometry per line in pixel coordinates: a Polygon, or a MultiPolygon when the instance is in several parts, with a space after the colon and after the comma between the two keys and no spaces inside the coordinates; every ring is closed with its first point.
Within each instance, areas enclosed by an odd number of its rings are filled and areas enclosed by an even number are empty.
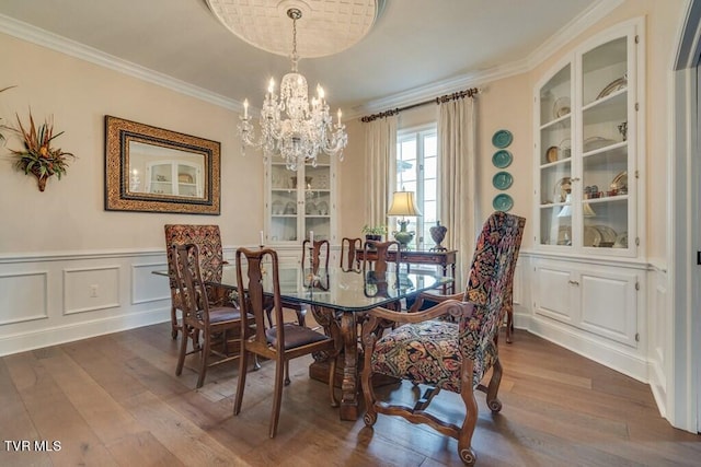
{"type": "Polygon", "coordinates": [[[64,269],[64,314],[119,306],[119,266],[64,269]]]}

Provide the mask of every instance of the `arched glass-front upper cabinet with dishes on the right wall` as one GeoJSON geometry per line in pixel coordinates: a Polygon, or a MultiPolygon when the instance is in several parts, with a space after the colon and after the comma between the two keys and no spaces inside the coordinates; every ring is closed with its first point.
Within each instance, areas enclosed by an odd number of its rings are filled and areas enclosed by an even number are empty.
{"type": "Polygon", "coordinates": [[[636,256],[636,24],[583,45],[536,87],[539,247],[636,256]]]}

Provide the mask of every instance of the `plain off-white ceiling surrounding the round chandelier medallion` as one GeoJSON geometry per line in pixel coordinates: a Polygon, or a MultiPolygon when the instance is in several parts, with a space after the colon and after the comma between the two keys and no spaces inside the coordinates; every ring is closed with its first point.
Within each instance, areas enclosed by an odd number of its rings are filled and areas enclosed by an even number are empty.
{"type": "MultiPolygon", "coordinates": [[[[617,4],[619,0],[387,0],[363,39],[338,54],[302,59],[299,71],[311,86],[324,86],[333,108],[357,115],[514,68],[553,37],[563,44],[577,34],[581,30],[573,25],[582,19],[595,21],[594,13],[617,4]]],[[[301,20],[300,33],[304,27],[301,20]]],[[[85,45],[93,56],[157,71],[232,105],[245,97],[261,105],[268,80],[279,80],[290,66],[287,57],[232,34],[206,0],[0,0],[3,31],[28,40],[44,34],[49,39],[43,44],[59,49],[62,37],[71,47],[85,45]]],[[[289,26],[269,34],[285,42],[289,26]]]]}

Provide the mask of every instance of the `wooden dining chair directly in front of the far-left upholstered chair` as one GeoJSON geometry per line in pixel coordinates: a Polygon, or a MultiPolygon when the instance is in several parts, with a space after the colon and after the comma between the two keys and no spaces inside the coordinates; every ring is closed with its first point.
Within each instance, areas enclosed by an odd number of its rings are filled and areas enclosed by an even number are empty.
{"type": "Polygon", "coordinates": [[[182,374],[186,355],[199,353],[199,377],[197,378],[197,388],[199,388],[205,382],[209,366],[226,363],[239,357],[241,312],[233,306],[209,304],[197,245],[192,243],[173,245],[171,256],[173,278],[183,312],[183,338],[175,374],[179,376],[182,374]],[[202,343],[194,335],[202,336],[202,343]],[[193,349],[187,351],[189,340],[193,341],[193,349]],[[217,357],[217,360],[211,361],[212,355],[217,357]]]}

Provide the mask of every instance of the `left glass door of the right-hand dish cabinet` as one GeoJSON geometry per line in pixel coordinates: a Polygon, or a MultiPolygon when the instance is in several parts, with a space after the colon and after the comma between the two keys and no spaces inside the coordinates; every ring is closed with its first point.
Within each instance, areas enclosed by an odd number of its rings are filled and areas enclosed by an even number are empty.
{"type": "Polygon", "coordinates": [[[572,246],[572,66],[539,92],[540,244],[572,246]]]}

